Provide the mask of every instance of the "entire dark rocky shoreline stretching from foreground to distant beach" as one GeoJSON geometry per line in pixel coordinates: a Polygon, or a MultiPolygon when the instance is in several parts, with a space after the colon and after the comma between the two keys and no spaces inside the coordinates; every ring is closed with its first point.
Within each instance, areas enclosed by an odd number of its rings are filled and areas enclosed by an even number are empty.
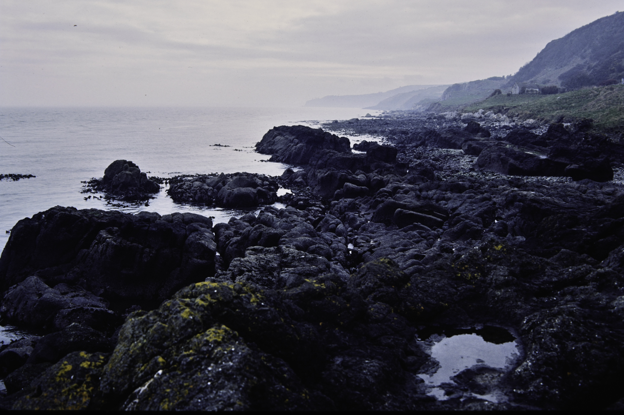
{"type": "Polygon", "coordinates": [[[589,127],[480,112],[275,127],[256,150],[300,169],[170,183],[258,215],[21,220],[0,315],[42,336],[0,348],[0,405],[621,409],[624,145],[589,127]],[[329,131],[385,144],[354,153],[329,131]],[[433,350],[459,333],[517,356],[434,388],[433,350]]]}

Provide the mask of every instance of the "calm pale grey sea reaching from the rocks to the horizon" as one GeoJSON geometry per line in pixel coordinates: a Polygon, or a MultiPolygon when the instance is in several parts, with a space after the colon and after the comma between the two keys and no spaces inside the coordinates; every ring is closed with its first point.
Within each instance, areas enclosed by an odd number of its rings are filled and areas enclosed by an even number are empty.
{"type": "MultiPolygon", "coordinates": [[[[132,160],[160,177],[250,172],[280,175],[287,165],[261,162],[256,142],[276,125],[362,117],[344,108],[0,108],[0,173],[36,178],[0,181],[0,248],[20,219],[56,205],[161,215],[196,212],[227,222],[236,211],[179,205],[163,188],[149,207],[110,208],[84,200],[82,180],[102,177],[114,160],[132,160]],[[213,144],[232,147],[212,147],[213,144]],[[14,147],[13,147],[14,146],[14,147]],[[234,150],[243,151],[234,151],[234,150]]],[[[354,138],[354,137],[350,137],[354,138]]],[[[361,138],[361,137],[358,137],[361,138]]],[[[352,140],[353,142],[353,140],[352,140]]]]}

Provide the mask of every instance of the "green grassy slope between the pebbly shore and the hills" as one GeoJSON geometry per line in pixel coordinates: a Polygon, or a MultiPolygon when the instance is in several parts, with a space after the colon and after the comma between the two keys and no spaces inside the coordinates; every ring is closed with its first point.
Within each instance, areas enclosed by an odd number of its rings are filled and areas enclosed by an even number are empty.
{"type": "Polygon", "coordinates": [[[624,85],[610,85],[574,90],[553,95],[496,95],[464,107],[461,112],[479,109],[505,112],[509,117],[564,122],[582,118],[594,120],[594,128],[603,132],[624,131],[624,85]]]}

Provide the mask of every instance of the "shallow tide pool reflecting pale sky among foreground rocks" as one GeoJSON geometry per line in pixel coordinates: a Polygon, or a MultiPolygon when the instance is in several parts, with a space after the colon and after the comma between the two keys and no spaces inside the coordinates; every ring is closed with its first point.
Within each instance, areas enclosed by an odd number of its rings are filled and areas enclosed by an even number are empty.
{"type": "MultiPolygon", "coordinates": [[[[427,394],[444,401],[450,396],[446,394],[443,384],[455,383],[453,376],[470,368],[496,368],[509,371],[520,356],[519,344],[516,341],[507,343],[490,343],[475,333],[457,334],[446,337],[444,334],[432,335],[426,342],[432,363],[428,373],[418,374],[425,381],[427,394]]],[[[491,390],[487,394],[464,394],[486,399],[495,403],[505,400],[500,391],[491,390]]]]}

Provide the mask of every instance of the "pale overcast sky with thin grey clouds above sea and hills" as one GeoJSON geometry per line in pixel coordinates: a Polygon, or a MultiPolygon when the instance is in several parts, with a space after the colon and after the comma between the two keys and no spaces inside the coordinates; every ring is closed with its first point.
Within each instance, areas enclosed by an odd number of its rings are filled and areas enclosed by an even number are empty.
{"type": "Polygon", "coordinates": [[[298,107],[514,74],[623,0],[0,0],[0,106],[298,107]]]}

